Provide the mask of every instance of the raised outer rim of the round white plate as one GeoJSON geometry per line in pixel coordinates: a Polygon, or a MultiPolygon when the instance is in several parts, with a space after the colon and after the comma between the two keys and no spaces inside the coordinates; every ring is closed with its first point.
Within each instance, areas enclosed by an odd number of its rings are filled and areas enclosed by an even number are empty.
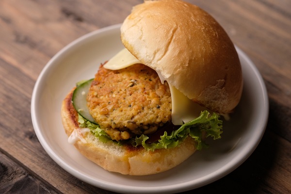
{"type": "Polygon", "coordinates": [[[70,48],[72,48],[76,44],[80,44],[80,42],[84,41],[87,38],[90,38],[91,36],[97,36],[98,34],[103,33],[103,32],[117,30],[120,28],[120,26],[121,26],[121,24],[115,24],[112,26],[108,26],[105,28],[95,30],[93,32],[89,32],[89,33],[84,34],[83,36],[77,38],[76,40],[74,40],[71,43],[69,43],[68,45],[66,45],[63,49],[58,51],[49,60],[49,62],[44,66],[41,73],[39,74],[39,76],[35,82],[35,85],[33,87],[33,91],[32,91],[32,100],[31,100],[32,125],[33,125],[33,129],[36,133],[36,136],[37,136],[39,142],[41,143],[41,145],[43,146],[45,151],[48,153],[50,158],[54,162],[56,162],[59,166],[61,166],[66,172],[68,172],[69,174],[73,175],[74,177],[76,177],[78,179],[81,179],[81,180],[83,180],[91,185],[97,186],[98,188],[101,188],[101,189],[105,189],[105,190],[109,190],[109,191],[113,191],[113,192],[121,192],[121,193],[129,193],[129,192],[130,193],[136,193],[136,192],[139,192],[139,193],[140,192],[145,192],[145,193],[152,193],[152,192],[164,193],[164,192],[167,192],[167,193],[169,193],[169,192],[187,191],[189,189],[194,189],[194,188],[198,188],[198,187],[210,184],[211,182],[214,182],[222,177],[225,177],[227,174],[229,174],[230,172],[235,170],[238,166],[240,166],[243,162],[245,162],[245,160],[248,159],[248,157],[253,153],[253,151],[259,145],[259,142],[260,142],[261,138],[263,137],[264,131],[265,131],[266,126],[267,126],[267,121],[268,121],[269,100],[268,100],[266,86],[265,86],[265,83],[263,81],[262,76],[259,73],[259,70],[254,65],[254,63],[251,61],[251,59],[242,51],[242,49],[238,48],[237,46],[235,46],[235,48],[238,52],[238,55],[241,56],[245,61],[247,61],[249,66],[252,68],[252,71],[256,74],[256,77],[258,78],[259,85],[261,86],[260,89],[262,90],[262,96],[264,97],[264,99],[262,99],[262,101],[264,102],[264,107],[267,111],[265,111],[265,114],[263,116],[263,118],[264,118],[263,124],[264,125],[261,126],[261,130],[260,130],[261,133],[258,136],[255,144],[252,146],[252,149],[248,152],[248,155],[241,156],[242,159],[239,160],[239,162],[236,162],[235,165],[233,165],[231,168],[224,166],[226,168],[226,170],[220,170],[220,173],[218,173],[219,176],[215,176],[214,178],[212,177],[208,181],[200,182],[200,184],[196,184],[196,187],[193,187],[193,185],[189,184],[190,181],[188,181],[186,183],[180,183],[178,185],[176,184],[173,186],[161,186],[161,187],[126,186],[126,189],[125,189],[124,186],[122,186],[120,184],[115,184],[115,183],[111,183],[111,182],[108,182],[107,184],[104,182],[103,183],[95,182],[92,179],[90,179],[84,175],[81,175],[81,177],[80,177],[80,173],[78,172],[78,170],[76,170],[76,169],[72,168],[71,166],[69,166],[68,164],[66,164],[66,162],[64,162],[59,156],[56,156],[53,149],[49,146],[48,142],[46,141],[46,139],[42,133],[42,130],[40,129],[38,121],[36,119],[36,115],[35,115],[36,109],[37,109],[37,107],[36,107],[37,99],[39,99],[39,94],[37,93],[37,89],[38,89],[39,85],[41,84],[42,78],[44,77],[44,74],[48,71],[49,67],[51,67],[51,65],[53,65],[54,61],[57,60],[59,57],[61,57],[63,54],[65,54],[65,52],[68,52],[68,50],[70,48]],[[111,186],[111,187],[109,187],[109,186],[111,186]]]}

